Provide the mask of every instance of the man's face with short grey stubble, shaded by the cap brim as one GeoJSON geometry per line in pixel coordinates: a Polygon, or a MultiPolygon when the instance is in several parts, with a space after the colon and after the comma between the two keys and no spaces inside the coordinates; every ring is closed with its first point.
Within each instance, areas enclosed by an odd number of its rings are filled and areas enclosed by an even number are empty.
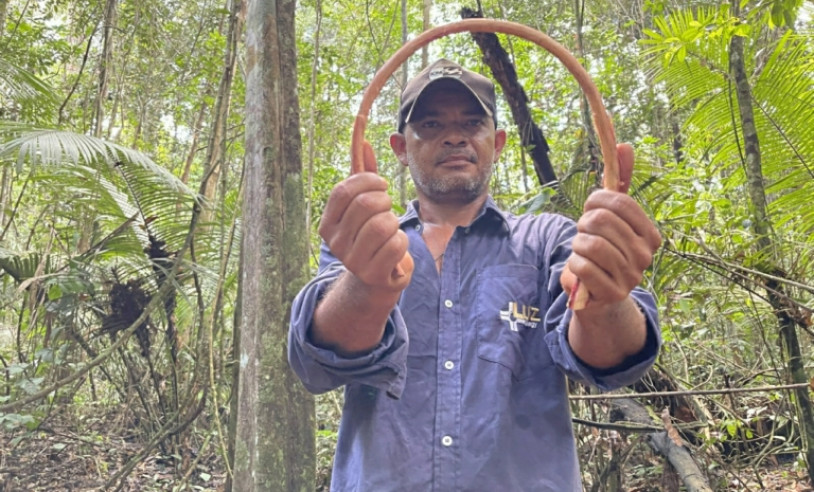
{"type": "Polygon", "coordinates": [[[390,144],[410,168],[419,197],[438,203],[469,203],[488,192],[492,164],[506,133],[495,130],[477,99],[457,82],[436,84],[419,98],[390,144]]]}

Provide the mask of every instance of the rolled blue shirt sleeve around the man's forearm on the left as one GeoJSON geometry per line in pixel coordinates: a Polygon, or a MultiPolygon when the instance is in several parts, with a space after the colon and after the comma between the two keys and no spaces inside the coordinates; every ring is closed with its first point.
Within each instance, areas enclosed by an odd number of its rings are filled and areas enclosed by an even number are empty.
{"type": "Polygon", "coordinates": [[[343,271],[341,266],[326,269],[294,299],[288,333],[289,364],[312,393],[359,383],[399,398],[407,377],[407,329],[398,308],[388,318],[381,343],[366,354],[343,357],[311,343],[309,330],[316,305],[343,271]]]}

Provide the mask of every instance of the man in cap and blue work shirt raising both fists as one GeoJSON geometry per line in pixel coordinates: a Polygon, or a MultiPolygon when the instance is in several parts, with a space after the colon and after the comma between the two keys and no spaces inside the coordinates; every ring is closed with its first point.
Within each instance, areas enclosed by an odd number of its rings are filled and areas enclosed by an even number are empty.
{"type": "MultiPolygon", "coordinates": [[[[345,386],[332,490],[582,490],[565,376],[611,389],[657,355],[636,287],[655,226],[605,190],[577,224],[501,211],[488,183],[505,142],[492,82],[439,60],[405,87],[390,137],[418,195],[406,214],[373,173],[331,193],[289,359],[310,391],[345,386]],[[590,300],[572,312],[576,278],[590,300]]],[[[629,146],[619,160],[629,183],[629,146]]]]}

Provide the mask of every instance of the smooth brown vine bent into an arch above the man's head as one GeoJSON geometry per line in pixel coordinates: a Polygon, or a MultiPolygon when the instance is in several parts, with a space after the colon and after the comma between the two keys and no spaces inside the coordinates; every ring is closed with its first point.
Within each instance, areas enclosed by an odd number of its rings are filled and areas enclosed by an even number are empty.
{"type": "MultiPolygon", "coordinates": [[[[465,19],[434,27],[405,43],[382,65],[379,71],[376,72],[376,75],[373,76],[370,85],[365,89],[362,95],[362,102],[359,106],[359,112],[353,123],[353,133],[351,135],[351,173],[355,174],[365,170],[363,157],[364,134],[370,108],[373,106],[373,101],[378,97],[384,84],[393,75],[396,69],[398,69],[410,55],[428,45],[430,42],[450,34],[465,31],[493,32],[518,36],[546,49],[562,62],[565,68],[571,72],[571,75],[576,78],[591,107],[591,114],[593,116],[597,136],[599,137],[599,146],[602,151],[602,160],[604,161],[603,186],[608,190],[618,190],[619,166],[616,159],[616,136],[613,131],[613,123],[611,123],[610,117],[605,110],[605,104],[602,102],[599,90],[596,88],[596,85],[594,85],[588,72],[580,65],[574,55],[549,36],[523,24],[498,19],[465,19]]],[[[393,276],[400,277],[403,275],[403,272],[404,270],[401,265],[399,265],[393,271],[393,276]]],[[[578,282],[569,301],[569,306],[574,310],[582,309],[587,304],[588,297],[588,291],[578,282]]]]}

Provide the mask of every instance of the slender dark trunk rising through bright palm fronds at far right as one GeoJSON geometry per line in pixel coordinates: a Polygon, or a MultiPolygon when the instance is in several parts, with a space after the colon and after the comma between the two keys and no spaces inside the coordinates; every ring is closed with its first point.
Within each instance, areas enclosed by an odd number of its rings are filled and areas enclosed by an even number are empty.
{"type": "MultiPolygon", "coordinates": [[[[732,2],[733,15],[739,14],[739,2],[732,2]]],[[[752,93],[749,79],[746,76],[746,63],[744,60],[743,37],[732,36],[729,43],[729,71],[735,83],[735,93],[738,102],[740,124],[743,133],[743,160],[748,186],[748,196],[751,205],[753,230],[757,236],[758,253],[761,255],[761,270],[775,278],[786,278],[786,274],[778,267],[775,258],[775,248],[772,241],[773,233],[769,227],[766,205],[766,190],[763,183],[763,170],[760,153],[760,139],[758,138],[755,117],[752,108],[752,93]]],[[[786,302],[788,294],[785,286],[776,280],[766,282],[766,294],[771,304],[780,330],[780,341],[786,355],[786,369],[793,383],[807,383],[808,376],[803,365],[803,355],[800,351],[800,341],[797,337],[795,320],[789,312],[786,302]]],[[[797,421],[800,437],[808,466],[809,479],[814,480],[814,410],[808,388],[795,390],[797,421]]]]}

